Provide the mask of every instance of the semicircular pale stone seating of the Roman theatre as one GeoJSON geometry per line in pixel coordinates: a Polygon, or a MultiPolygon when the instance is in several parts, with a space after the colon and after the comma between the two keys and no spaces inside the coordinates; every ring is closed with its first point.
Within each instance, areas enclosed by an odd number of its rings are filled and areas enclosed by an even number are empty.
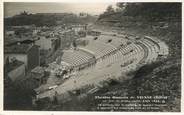
{"type": "Polygon", "coordinates": [[[94,90],[97,90],[96,87],[100,87],[101,83],[120,77],[122,72],[129,72],[135,70],[138,66],[156,61],[159,53],[168,54],[167,46],[164,46],[158,40],[154,41],[152,38],[135,40],[135,42],[129,44],[124,37],[116,36],[101,35],[96,40],[92,37],[87,39],[89,39],[89,44],[80,46],[79,50],[64,51],[62,60],[72,66],[87,63],[93,58],[86,53],[86,51],[89,51],[95,56],[96,64],[93,67],[78,71],[75,77],[71,77],[54,90],[40,94],[40,98],[51,97],[53,95],[50,94],[54,94],[54,91],[57,91],[58,94],[64,94],[67,91],[85,86],[93,86],[93,88],[95,87],[94,90]],[[109,39],[112,39],[112,41],[107,43],[109,39]],[[121,44],[123,45],[121,46],[121,44]]]}

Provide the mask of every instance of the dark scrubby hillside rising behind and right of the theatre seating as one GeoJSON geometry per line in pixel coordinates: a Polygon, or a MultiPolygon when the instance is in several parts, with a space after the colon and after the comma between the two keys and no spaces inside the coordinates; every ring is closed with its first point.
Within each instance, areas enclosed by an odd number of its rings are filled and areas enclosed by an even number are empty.
{"type": "Polygon", "coordinates": [[[119,33],[155,36],[165,41],[170,54],[166,59],[158,59],[157,66],[154,63],[140,68],[135,73],[138,77],[120,83],[102,95],[166,95],[169,96],[168,107],[162,111],[180,111],[181,4],[130,3],[122,12],[109,16],[102,14],[97,24],[104,26],[101,29],[108,28],[119,33]],[[147,73],[151,66],[153,68],[147,73]]]}

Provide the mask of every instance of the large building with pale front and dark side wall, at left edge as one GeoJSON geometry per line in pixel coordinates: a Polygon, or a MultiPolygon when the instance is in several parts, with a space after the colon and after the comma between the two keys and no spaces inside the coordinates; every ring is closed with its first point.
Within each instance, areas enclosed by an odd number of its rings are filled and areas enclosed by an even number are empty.
{"type": "Polygon", "coordinates": [[[5,61],[16,59],[18,61],[24,62],[26,71],[29,71],[40,65],[40,51],[39,47],[36,45],[18,43],[16,45],[5,46],[4,53],[5,61]]]}

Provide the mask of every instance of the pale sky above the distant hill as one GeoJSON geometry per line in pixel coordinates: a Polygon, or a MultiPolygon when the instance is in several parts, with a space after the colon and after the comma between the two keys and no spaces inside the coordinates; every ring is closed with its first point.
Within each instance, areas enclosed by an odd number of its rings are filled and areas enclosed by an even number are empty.
{"type": "Polygon", "coordinates": [[[29,13],[80,13],[85,12],[93,15],[103,13],[107,6],[115,3],[25,3],[25,2],[6,2],[4,3],[4,15],[10,17],[20,12],[29,13]]]}

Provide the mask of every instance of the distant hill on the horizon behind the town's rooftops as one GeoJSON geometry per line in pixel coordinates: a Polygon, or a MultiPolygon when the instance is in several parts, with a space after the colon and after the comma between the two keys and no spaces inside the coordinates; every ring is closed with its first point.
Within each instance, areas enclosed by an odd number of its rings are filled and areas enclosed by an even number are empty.
{"type": "Polygon", "coordinates": [[[28,14],[26,12],[13,17],[5,18],[5,26],[21,26],[21,25],[36,25],[36,26],[55,26],[58,24],[85,24],[94,22],[95,16],[87,15],[80,17],[72,13],[37,13],[28,14]]]}

